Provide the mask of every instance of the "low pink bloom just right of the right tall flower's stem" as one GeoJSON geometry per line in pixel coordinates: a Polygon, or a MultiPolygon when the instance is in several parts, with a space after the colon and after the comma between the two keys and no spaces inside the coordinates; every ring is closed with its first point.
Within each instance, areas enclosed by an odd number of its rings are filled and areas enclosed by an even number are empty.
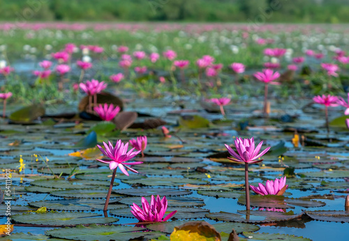
{"type": "Polygon", "coordinates": [[[286,177],[276,178],[273,180],[267,180],[266,185],[258,183],[258,187],[250,186],[252,191],[260,195],[277,195],[282,196],[285,193],[285,190],[288,188],[286,185],[286,177]]]}

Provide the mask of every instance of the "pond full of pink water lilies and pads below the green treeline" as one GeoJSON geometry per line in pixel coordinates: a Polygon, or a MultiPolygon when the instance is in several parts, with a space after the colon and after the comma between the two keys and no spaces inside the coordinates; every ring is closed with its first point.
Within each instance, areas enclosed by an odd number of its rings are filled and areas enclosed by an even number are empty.
{"type": "Polygon", "coordinates": [[[296,26],[0,25],[12,235],[309,240],[254,232],[348,222],[348,29],[296,26]]]}

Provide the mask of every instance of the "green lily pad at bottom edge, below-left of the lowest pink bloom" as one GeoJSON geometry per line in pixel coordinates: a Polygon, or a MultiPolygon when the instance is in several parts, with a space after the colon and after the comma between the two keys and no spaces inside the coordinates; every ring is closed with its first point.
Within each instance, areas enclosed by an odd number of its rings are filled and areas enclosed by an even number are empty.
{"type": "Polygon", "coordinates": [[[142,236],[147,237],[151,235],[151,238],[163,235],[163,233],[154,232],[140,232],[144,231],[144,228],[136,228],[130,226],[97,226],[91,224],[90,226],[76,226],[74,228],[56,228],[54,230],[46,231],[46,235],[50,235],[55,238],[66,238],[68,240],[86,240],[86,241],[109,241],[109,240],[130,240],[134,238],[140,238],[142,236]]]}

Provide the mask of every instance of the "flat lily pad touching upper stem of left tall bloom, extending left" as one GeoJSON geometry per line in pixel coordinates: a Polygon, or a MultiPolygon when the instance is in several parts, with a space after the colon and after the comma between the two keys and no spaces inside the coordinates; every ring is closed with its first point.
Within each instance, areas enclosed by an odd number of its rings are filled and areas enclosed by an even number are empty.
{"type": "MultiPolygon", "coordinates": [[[[31,182],[31,185],[40,187],[53,187],[53,188],[65,188],[65,189],[88,189],[93,186],[109,186],[110,182],[98,181],[98,180],[64,180],[64,179],[50,179],[50,180],[35,180],[31,182]]],[[[114,182],[114,186],[119,183],[114,182]]]]}

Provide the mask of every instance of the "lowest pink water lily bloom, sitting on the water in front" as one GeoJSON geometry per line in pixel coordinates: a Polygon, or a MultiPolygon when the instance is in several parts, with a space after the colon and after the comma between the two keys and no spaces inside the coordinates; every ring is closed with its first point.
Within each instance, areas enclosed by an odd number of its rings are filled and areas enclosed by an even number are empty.
{"type": "Polygon", "coordinates": [[[151,195],[151,203],[149,205],[147,199],[142,197],[142,208],[137,204],[133,203],[131,205],[131,213],[135,216],[139,221],[147,221],[147,222],[161,222],[168,221],[173,215],[176,214],[177,210],[170,212],[165,218],[165,212],[168,208],[168,200],[164,196],[163,199],[160,196],[156,196],[156,199],[153,195],[151,195]]]}

